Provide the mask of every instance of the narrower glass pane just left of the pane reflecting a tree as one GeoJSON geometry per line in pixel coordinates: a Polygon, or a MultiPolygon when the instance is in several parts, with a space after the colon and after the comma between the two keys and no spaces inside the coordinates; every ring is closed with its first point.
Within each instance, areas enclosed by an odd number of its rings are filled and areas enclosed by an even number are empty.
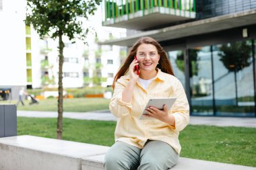
{"type": "Polygon", "coordinates": [[[212,53],[210,46],[189,49],[193,115],[213,115],[212,53]]]}

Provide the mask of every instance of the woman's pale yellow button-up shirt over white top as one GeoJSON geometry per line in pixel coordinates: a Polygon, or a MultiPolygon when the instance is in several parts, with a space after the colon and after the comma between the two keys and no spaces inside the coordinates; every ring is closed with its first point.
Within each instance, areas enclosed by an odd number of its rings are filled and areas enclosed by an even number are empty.
{"type": "Polygon", "coordinates": [[[129,76],[124,75],[115,84],[109,109],[117,117],[115,140],[123,141],[143,148],[147,140],[162,140],[177,153],[181,152],[179,132],[189,123],[189,103],[181,82],[174,76],[163,73],[158,69],[155,79],[143,89],[139,81],[131,93],[131,102],[122,101],[122,92],[127,86],[129,76]],[[170,126],[155,118],[140,120],[141,114],[153,97],[176,97],[176,101],[168,114],[175,118],[175,126],[170,126]]]}

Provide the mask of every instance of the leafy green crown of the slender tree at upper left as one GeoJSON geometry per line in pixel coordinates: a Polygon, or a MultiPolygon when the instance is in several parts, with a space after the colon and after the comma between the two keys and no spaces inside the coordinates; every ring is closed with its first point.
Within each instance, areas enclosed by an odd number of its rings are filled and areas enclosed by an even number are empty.
{"type": "Polygon", "coordinates": [[[83,20],[94,15],[101,0],[27,0],[26,24],[33,26],[41,38],[57,38],[59,32],[69,40],[85,40],[88,28],[84,30],[83,20]]]}

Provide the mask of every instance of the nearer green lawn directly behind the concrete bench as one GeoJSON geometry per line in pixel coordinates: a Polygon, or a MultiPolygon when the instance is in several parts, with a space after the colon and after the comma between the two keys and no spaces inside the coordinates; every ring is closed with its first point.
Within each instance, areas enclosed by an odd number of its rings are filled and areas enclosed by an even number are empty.
{"type": "MultiPolygon", "coordinates": [[[[18,117],[18,135],[55,138],[55,118],[18,117]]],[[[72,120],[63,122],[63,139],[111,146],[116,122],[72,120]]],[[[193,126],[180,134],[181,157],[256,167],[256,128],[193,126]]]]}

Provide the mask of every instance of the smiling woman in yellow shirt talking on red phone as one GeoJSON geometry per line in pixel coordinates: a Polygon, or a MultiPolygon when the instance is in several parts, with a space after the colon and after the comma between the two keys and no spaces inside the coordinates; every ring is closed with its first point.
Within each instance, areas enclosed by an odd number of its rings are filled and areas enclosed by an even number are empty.
{"type": "Polygon", "coordinates": [[[104,169],[166,170],[176,165],[179,132],[189,123],[189,103],[162,46],[150,37],[137,40],[115,76],[113,89],[109,108],[117,117],[116,142],[106,153],[104,169]],[[140,119],[154,97],[177,99],[170,110],[166,105],[164,110],[150,107],[149,118],[140,119]]]}

